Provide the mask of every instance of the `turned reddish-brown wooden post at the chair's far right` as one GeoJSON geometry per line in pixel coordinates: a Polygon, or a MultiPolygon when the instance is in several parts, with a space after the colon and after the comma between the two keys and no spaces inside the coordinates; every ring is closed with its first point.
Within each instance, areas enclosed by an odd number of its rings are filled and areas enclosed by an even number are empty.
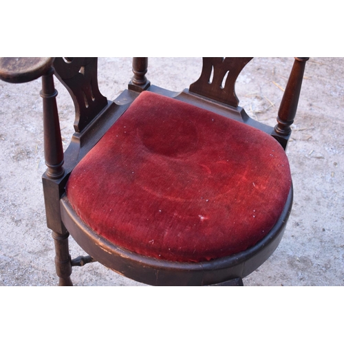
{"type": "Polygon", "coordinates": [[[305,71],[305,63],[308,60],[309,57],[295,57],[292,72],[279,106],[277,125],[275,126],[275,131],[279,135],[288,136],[291,133],[290,126],[294,122],[297,113],[303,72],[305,71]]]}

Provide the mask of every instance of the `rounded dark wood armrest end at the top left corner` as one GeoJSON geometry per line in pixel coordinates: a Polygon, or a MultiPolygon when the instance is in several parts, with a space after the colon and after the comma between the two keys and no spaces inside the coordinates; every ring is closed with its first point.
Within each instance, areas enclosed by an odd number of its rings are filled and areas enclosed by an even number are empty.
{"type": "Polygon", "coordinates": [[[0,79],[8,83],[28,83],[43,76],[54,57],[1,57],[0,79]]]}

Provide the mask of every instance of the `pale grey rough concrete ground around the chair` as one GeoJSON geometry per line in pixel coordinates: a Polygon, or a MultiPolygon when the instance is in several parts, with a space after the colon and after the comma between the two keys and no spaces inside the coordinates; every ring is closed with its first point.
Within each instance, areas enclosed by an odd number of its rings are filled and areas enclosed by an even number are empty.
{"type": "MultiPolygon", "coordinates": [[[[240,105],[275,125],[293,58],[257,58],[237,80],[240,105]]],[[[149,58],[149,80],[175,91],[197,79],[201,58],[149,58]]],[[[305,69],[288,158],[294,205],[281,244],[244,279],[246,286],[344,285],[344,58],[311,58],[305,69]]],[[[100,58],[100,91],[113,100],[131,78],[130,58],[100,58]]],[[[54,246],[45,226],[40,80],[0,82],[0,286],[56,286],[54,246]]],[[[64,148],[73,105],[56,81],[64,148]]],[[[73,239],[72,257],[83,254],[73,239]]],[[[74,268],[76,286],[143,286],[98,263],[74,268]]]]}

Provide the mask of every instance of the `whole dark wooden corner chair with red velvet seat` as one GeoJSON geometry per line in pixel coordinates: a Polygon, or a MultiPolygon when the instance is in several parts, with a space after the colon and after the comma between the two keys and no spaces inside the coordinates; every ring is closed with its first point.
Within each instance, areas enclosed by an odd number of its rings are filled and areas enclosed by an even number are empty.
{"type": "Polygon", "coordinates": [[[1,58],[0,78],[42,76],[43,190],[60,286],[92,261],[154,286],[242,286],[275,251],[292,208],[285,149],[305,62],[295,58],[277,125],[250,118],[235,81],[251,58],[203,58],[183,92],[147,80],[147,58],[116,100],[97,58],[1,58]],[[63,152],[53,75],[75,105],[63,152]],[[89,254],[71,259],[68,237],[89,254]]]}

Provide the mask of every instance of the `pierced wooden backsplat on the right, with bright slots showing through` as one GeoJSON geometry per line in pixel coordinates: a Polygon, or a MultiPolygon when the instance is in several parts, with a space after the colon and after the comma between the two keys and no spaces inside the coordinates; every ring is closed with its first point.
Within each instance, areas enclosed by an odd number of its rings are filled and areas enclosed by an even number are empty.
{"type": "Polygon", "coordinates": [[[189,91],[237,107],[235,81],[252,57],[204,57],[200,78],[189,91]]]}

